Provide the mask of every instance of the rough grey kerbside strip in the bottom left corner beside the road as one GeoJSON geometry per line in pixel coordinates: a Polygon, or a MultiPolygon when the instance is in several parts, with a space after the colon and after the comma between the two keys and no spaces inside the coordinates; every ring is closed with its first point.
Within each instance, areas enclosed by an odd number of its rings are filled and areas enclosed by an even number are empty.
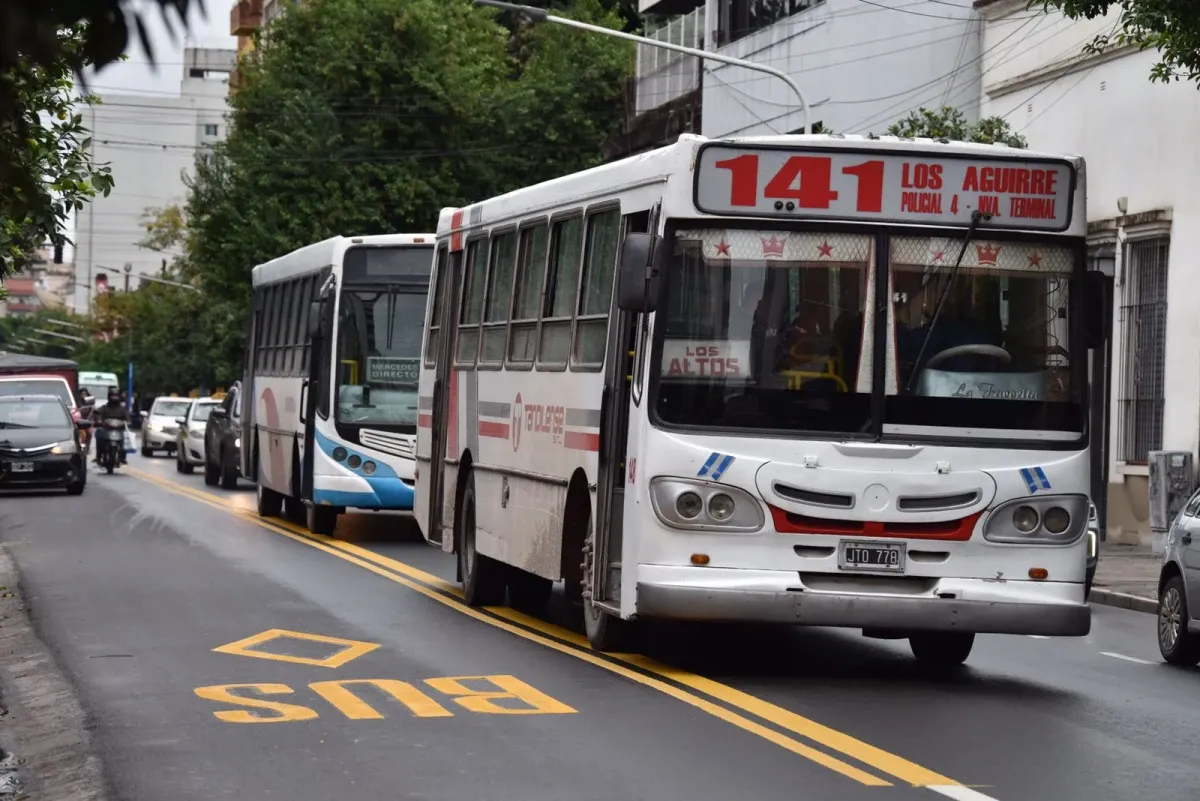
{"type": "Polygon", "coordinates": [[[50,649],[37,634],[20,591],[17,566],[0,546],[0,688],[5,713],[0,717],[0,797],[40,801],[106,801],[109,799],[103,766],[91,742],[88,715],[78,694],[59,668],[50,649]],[[22,785],[12,773],[16,761],[22,785]],[[10,784],[5,788],[5,784],[10,784]]]}

